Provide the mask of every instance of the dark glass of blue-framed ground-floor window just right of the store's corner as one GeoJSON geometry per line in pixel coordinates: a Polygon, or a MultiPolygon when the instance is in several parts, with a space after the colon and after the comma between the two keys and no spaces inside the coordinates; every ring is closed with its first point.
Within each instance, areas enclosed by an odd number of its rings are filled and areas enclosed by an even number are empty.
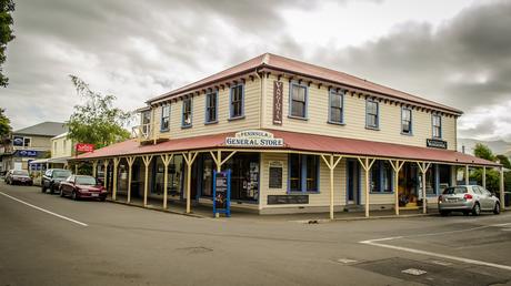
{"type": "Polygon", "coordinates": [[[289,191],[318,192],[319,157],[314,155],[289,155],[289,191]]]}

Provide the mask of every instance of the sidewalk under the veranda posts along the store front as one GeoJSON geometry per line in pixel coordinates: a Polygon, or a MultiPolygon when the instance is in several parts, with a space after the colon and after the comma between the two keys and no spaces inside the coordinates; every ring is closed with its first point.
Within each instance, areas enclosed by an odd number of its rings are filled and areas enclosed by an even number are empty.
{"type": "MultiPolygon", "coordinates": [[[[130,206],[143,207],[143,200],[141,197],[132,197],[130,204],[127,203],[127,196],[122,194],[117,195],[117,200],[112,201],[111,196],[107,201],[118,204],[124,204],[130,206]]],[[[213,218],[213,213],[211,206],[207,205],[191,205],[191,213],[186,213],[186,203],[180,201],[168,201],[167,210],[163,210],[162,200],[150,198],[148,197],[148,206],[143,208],[167,212],[172,214],[180,214],[192,216],[197,218],[213,218]]],[[[407,217],[418,217],[418,216],[431,216],[438,215],[438,211],[430,210],[430,213],[422,214],[422,210],[401,210],[400,215],[397,216],[393,210],[385,211],[371,211],[370,217],[365,217],[364,212],[335,212],[333,221],[363,221],[363,219],[382,219],[382,218],[407,218],[407,217]]],[[[224,216],[221,218],[226,219],[224,216]]],[[[243,221],[259,221],[259,222],[297,222],[297,223],[328,223],[332,222],[329,219],[329,213],[299,213],[299,214],[265,214],[259,215],[257,213],[251,213],[242,210],[231,210],[231,217],[227,219],[243,219],[243,221]]]]}

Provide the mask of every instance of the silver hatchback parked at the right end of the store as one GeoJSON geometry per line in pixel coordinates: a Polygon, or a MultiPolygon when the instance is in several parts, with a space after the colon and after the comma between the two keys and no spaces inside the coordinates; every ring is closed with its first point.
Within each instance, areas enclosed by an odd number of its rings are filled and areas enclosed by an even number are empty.
{"type": "Polygon", "coordinates": [[[479,185],[450,186],[439,196],[439,212],[441,215],[451,212],[462,212],[464,215],[480,215],[481,212],[500,214],[500,201],[479,185]]]}

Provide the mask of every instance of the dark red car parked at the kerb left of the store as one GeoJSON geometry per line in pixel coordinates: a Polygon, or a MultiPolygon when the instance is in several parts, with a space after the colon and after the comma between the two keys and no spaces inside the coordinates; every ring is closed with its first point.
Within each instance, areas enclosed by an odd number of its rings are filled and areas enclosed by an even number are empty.
{"type": "Polygon", "coordinates": [[[99,198],[107,200],[107,190],[93,176],[71,175],[60,183],[60,196],[71,196],[73,200],[99,198]]]}

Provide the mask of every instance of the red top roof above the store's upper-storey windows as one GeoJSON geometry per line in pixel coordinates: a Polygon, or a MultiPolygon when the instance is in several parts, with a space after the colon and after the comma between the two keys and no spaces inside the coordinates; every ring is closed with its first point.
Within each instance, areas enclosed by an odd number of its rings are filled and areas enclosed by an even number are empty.
{"type": "Polygon", "coordinates": [[[371,82],[364,79],[360,79],[360,78],[357,78],[354,75],[351,75],[344,72],[327,69],[323,67],[305,63],[302,61],[297,61],[293,59],[284,58],[284,57],[272,54],[272,53],[261,54],[251,60],[242,62],[238,65],[229,68],[224,71],[221,71],[219,73],[216,73],[213,75],[210,75],[197,82],[190,83],[177,90],[173,90],[162,95],[150,99],[148,103],[151,103],[151,102],[154,102],[161,99],[166,99],[166,98],[172,98],[174,95],[180,95],[186,92],[190,92],[194,89],[204,88],[206,85],[209,85],[217,81],[227,80],[229,78],[241,75],[243,73],[255,71],[262,68],[277,70],[281,72],[295,73],[301,76],[308,76],[312,79],[328,81],[328,82],[345,85],[349,88],[358,89],[361,91],[372,92],[372,93],[381,94],[384,96],[390,96],[390,98],[400,99],[400,100],[409,101],[409,102],[417,103],[417,104],[441,109],[441,110],[449,111],[455,114],[463,113],[461,110],[458,110],[458,109],[454,109],[454,108],[451,108],[451,106],[448,106],[448,105],[444,105],[444,104],[441,104],[441,103],[438,103],[431,100],[427,100],[427,99],[423,99],[423,98],[420,98],[420,96],[417,96],[417,95],[413,95],[407,92],[394,90],[392,88],[384,86],[384,85],[381,85],[381,84],[378,84],[378,83],[374,83],[374,82],[371,82]]]}

